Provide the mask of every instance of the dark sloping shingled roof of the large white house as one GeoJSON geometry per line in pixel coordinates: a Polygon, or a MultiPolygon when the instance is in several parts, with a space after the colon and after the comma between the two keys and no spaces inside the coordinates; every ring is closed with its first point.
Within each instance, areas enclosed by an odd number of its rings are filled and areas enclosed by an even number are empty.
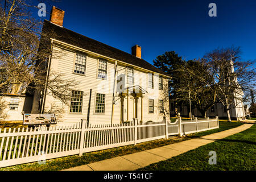
{"type": "Polygon", "coordinates": [[[167,73],[148,63],[146,60],[131,55],[130,53],[121,51],[117,48],[108,46],[104,43],[98,42],[97,40],[90,39],[84,35],[68,30],[67,28],[57,26],[56,24],[53,24],[48,20],[44,20],[42,31],[54,32],[55,34],[50,34],[53,36],[52,38],[61,42],[71,44],[73,46],[80,47],[82,49],[86,49],[88,51],[98,53],[100,55],[104,55],[115,60],[123,61],[137,67],[148,69],[152,72],[169,76],[167,73]]]}

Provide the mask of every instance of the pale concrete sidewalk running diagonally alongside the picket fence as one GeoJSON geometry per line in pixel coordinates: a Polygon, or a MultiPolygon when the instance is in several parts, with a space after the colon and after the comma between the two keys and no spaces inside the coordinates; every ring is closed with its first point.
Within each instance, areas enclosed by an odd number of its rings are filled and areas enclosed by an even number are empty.
{"type": "Polygon", "coordinates": [[[161,160],[170,159],[173,156],[180,155],[189,150],[212,143],[218,139],[240,133],[241,131],[249,129],[251,126],[253,125],[244,124],[233,129],[206,135],[197,139],[185,140],[183,142],[169,144],[167,146],[153,148],[151,150],[101,160],[95,163],[64,169],[63,171],[133,171],[152,163],[160,162],[161,160]]]}

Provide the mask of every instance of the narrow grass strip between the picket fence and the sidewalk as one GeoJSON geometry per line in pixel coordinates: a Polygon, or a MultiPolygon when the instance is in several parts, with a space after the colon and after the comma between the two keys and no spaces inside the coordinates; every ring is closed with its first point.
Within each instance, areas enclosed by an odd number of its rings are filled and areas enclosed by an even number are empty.
{"type": "Polygon", "coordinates": [[[12,167],[5,167],[5,168],[0,168],[0,170],[61,170],[61,169],[67,169],[67,168],[72,168],[76,166],[81,166],[84,164],[89,164],[93,162],[97,162],[100,160],[104,159],[110,159],[114,158],[117,156],[122,156],[126,154],[133,154],[134,152],[139,152],[143,150],[149,150],[152,148],[156,147],[161,147],[165,146],[167,144],[172,144],[172,143],[177,143],[181,142],[184,140],[188,140],[191,138],[198,138],[202,137],[204,135],[209,135],[212,133],[232,129],[234,127],[240,126],[242,123],[238,122],[221,122],[220,121],[220,129],[214,129],[214,130],[209,130],[209,131],[203,131],[200,133],[195,133],[195,134],[189,134],[187,137],[184,138],[171,138],[171,139],[159,139],[159,140],[154,140],[151,142],[144,142],[144,143],[139,143],[130,146],[123,146],[123,147],[117,147],[117,148],[110,148],[107,150],[101,150],[101,151],[96,151],[96,152],[88,152],[84,153],[82,156],[79,155],[72,155],[72,156],[67,156],[63,158],[57,158],[57,159],[51,159],[47,160],[46,164],[39,164],[37,162],[34,163],[28,163],[28,164],[20,164],[12,167]]]}

